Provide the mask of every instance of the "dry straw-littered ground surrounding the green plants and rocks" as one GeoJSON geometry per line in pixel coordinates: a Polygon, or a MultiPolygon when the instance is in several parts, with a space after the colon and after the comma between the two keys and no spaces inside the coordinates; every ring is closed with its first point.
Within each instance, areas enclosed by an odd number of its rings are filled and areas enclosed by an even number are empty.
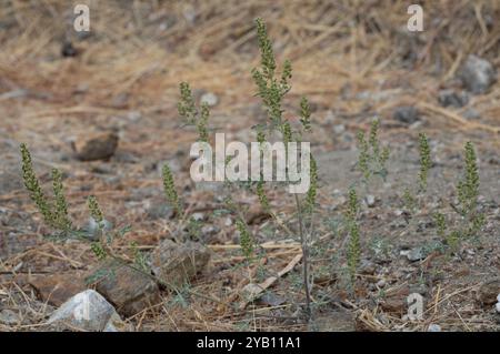
{"type": "MultiPolygon", "coordinates": [[[[21,142],[47,189],[51,169],[62,171],[74,224],[87,224],[87,198],[96,195],[117,229],[131,225],[113,244],[123,257],[137,250],[147,254],[179,231],[182,221],[168,212],[162,191],[161,168],[171,166],[187,213],[200,221],[211,262],[186,289],[163,290],[160,304],[124,315],[134,330],[426,331],[439,324],[443,331],[498,331],[499,315],[478,296],[500,271],[500,84],[468,94],[460,108],[438,100],[443,90],[461,90],[457,74],[469,54],[500,67],[498,1],[424,1],[421,33],[406,29],[408,1],[82,2],[91,9],[88,36],[72,30],[67,1],[0,6],[0,311],[18,316],[0,322],[0,331],[36,331],[50,315],[53,306],[33,289],[33,279],[77,279],[98,263],[88,242],[43,237],[49,230],[22,185],[21,142]],[[310,324],[301,316],[298,240],[277,227],[254,193],[239,191],[234,200],[260,244],[259,261],[241,265],[234,215],[223,210],[220,185],[189,179],[197,133],[181,127],[177,111],[179,83],[189,82],[197,100],[206,92],[218,98],[211,129],[228,140],[254,141],[250,127],[266,119],[250,73],[259,63],[257,17],[268,23],[278,61],[292,62],[286,118],[298,122],[302,95],[313,110],[308,139],[320,189],[310,324]],[[64,58],[69,42],[77,54],[64,58]],[[398,120],[399,107],[416,108],[418,118],[398,120]],[[361,261],[351,286],[343,215],[349,188],[361,179],[356,136],[369,131],[373,117],[391,150],[389,175],[358,190],[361,261]],[[71,142],[99,131],[118,132],[116,154],[108,161],[74,159],[71,142]],[[402,200],[418,180],[420,132],[429,136],[433,165],[428,193],[408,222],[402,200]],[[448,204],[457,196],[467,141],[479,158],[484,226],[477,240],[441,252],[433,247],[439,235],[432,215],[439,209],[449,225],[460,222],[448,204]],[[416,246],[429,252],[416,262],[401,255],[416,246]],[[261,300],[247,303],[241,291],[250,279],[270,286],[261,300]],[[402,316],[411,292],[426,299],[423,321],[402,316]]],[[[268,196],[297,230],[292,196],[272,189],[268,196]]]]}

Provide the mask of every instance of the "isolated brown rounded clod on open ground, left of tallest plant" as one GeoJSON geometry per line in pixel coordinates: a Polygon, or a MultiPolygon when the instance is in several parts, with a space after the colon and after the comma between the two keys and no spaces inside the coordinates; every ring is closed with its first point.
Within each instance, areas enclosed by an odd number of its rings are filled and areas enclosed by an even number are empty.
{"type": "Polygon", "coordinates": [[[116,132],[102,132],[79,136],[72,149],[81,161],[107,160],[114,154],[119,138],[116,132]]]}

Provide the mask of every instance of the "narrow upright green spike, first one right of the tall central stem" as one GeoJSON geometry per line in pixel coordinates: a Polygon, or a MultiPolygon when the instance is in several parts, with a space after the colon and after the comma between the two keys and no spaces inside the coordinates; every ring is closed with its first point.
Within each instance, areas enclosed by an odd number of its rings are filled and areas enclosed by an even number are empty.
{"type": "Polygon", "coordinates": [[[349,190],[349,205],[346,214],[348,231],[349,231],[349,243],[347,247],[347,259],[348,259],[348,267],[349,274],[351,279],[351,284],[356,281],[356,273],[358,270],[358,265],[361,256],[361,245],[360,245],[360,235],[359,235],[359,225],[358,225],[358,211],[359,211],[359,201],[358,194],[356,190],[351,188],[349,190]]]}

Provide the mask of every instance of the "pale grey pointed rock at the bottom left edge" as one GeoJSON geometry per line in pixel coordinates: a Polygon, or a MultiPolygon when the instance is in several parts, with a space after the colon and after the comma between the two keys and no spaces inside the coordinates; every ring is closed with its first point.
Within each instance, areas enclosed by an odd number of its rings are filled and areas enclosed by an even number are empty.
{"type": "Polygon", "coordinates": [[[114,307],[93,290],[86,290],[69,299],[50,316],[52,331],[116,332],[124,328],[114,307]]]}

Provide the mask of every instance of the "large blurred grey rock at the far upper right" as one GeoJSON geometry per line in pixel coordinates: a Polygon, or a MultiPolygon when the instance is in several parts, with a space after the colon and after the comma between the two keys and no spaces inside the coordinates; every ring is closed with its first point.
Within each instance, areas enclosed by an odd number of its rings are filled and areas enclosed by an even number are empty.
{"type": "Polygon", "coordinates": [[[459,79],[468,91],[481,94],[497,81],[497,72],[487,60],[469,55],[459,71],[459,79]]]}

